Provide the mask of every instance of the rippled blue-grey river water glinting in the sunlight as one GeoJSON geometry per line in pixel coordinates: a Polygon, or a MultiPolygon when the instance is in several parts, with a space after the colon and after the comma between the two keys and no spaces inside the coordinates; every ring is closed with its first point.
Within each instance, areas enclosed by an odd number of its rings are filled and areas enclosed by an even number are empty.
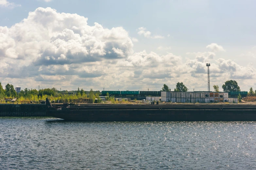
{"type": "Polygon", "coordinates": [[[0,118],[0,169],[256,169],[256,122],[0,118]]]}

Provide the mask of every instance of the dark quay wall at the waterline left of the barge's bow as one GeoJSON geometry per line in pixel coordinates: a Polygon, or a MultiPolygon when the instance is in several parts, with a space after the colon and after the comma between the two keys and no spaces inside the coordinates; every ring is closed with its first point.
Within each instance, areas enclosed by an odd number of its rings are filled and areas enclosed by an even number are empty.
{"type": "Polygon", "coordinates": [[[0,104],[0,117],[45,117],[45,104],[0,104]]]}

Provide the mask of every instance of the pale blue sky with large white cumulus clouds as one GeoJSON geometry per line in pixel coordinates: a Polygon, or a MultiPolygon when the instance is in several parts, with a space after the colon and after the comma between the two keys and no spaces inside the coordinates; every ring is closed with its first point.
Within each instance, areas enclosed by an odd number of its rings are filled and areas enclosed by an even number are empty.
{"type": "Polygon", "coordinates": [[[0,0],[0,82],[21,89],[256,90],[256,1],[0,0]]]}

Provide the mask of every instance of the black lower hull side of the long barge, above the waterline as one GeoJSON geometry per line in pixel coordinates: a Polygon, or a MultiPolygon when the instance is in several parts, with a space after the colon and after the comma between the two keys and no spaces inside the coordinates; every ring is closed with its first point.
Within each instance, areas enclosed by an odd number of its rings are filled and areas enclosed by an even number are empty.
{"type": "Polygon", "coordinates": [[[51,110],[48,116],[75,121],[256,121],[255,110],[51,110]]]}

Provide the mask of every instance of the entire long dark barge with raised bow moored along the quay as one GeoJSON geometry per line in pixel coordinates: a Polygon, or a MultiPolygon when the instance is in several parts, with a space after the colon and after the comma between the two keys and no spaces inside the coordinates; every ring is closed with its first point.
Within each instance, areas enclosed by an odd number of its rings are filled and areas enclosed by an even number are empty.
{"type": "Polygon", "coordinates": [[[76,121],[256,121],[256,105],[245,104],[46,106],[48,116],[76,121]]]}

